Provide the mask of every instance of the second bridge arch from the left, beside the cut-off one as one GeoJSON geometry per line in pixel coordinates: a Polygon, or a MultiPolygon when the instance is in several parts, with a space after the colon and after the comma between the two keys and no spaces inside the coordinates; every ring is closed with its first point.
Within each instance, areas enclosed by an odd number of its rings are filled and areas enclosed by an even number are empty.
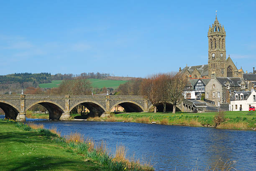
{"type": "Polygon", "coordinates": [[[32,103],[31,105],[26,107],[25,112],[28,111],[29,108],[31,108],[36,104],[40,104],[44,106],[47,109],[47,111],[49,111],[50,120],[59,120],[62,113],[64,113],[64,108],[62,106],[60,106],[58,103],[55,103],[53,101],[47,101],[47,100],[36,101],[32,103]]]}

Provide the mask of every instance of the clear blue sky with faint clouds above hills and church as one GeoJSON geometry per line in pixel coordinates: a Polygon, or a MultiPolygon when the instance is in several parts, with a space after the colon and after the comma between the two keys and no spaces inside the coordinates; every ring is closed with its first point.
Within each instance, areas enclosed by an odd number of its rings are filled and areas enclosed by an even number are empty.
{"type": "Polygon", "coordinates": [[[146,77],[208,62],[209,25],[237,68],[256,67],[255,0],[1,0],[0,75],[146,77]]]}

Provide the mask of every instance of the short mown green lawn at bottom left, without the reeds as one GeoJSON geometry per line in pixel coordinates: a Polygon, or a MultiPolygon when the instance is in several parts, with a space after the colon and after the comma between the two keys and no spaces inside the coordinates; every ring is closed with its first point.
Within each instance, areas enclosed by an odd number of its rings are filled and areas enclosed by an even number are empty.
{"type": "Polygon", "coordinates": [[[105,170],[93,161],[83,161],[71,147],[63,147],[38,131],[25,131],[0,120],[1,170],[105,170]]]}

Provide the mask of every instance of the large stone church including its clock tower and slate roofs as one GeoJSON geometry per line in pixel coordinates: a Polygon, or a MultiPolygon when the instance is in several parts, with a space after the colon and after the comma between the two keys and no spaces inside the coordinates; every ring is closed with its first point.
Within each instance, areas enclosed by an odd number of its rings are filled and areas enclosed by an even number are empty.
{"type": "Polygon", "coordinates": [[[240,77],[243,69],[237,69],[230,56],[226,58],[226,32],[224,26],[217,19],[208,30],[208,65],[186,66],[179,68],[188,78],[240,77]]]}

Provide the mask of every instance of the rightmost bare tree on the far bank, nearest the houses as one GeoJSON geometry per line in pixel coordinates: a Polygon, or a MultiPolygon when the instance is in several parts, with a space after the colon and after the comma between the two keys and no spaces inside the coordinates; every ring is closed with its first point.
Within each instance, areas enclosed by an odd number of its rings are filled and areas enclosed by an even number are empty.
{"type": "Polygon", "coordinates": [[[177,104],[184,98],[183,92],[187,85],[187,76],[181,73],[177,73],[168,82],[168,101],[172,103],[172,113],[176,112],[177,104]]]}

